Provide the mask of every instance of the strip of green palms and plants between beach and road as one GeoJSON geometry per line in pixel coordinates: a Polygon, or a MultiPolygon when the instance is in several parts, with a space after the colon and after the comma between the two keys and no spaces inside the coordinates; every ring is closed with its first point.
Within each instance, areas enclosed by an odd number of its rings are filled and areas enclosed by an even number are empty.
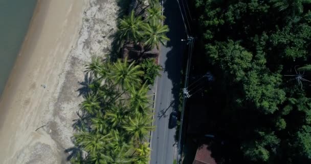
{"type": "MultiPolygon", "coordinates": [[[[160,22],[164,16],[159,2],[136,3],[149,5],[120,19],[118,37],[121,46],[140,45],[143,50],[136,55],[144,56],[169,40],[165,35],[168,27],[160,22]]],[[[116,61],[103,58],[92,58],[86,66],[89,83],[83,88],[85,99],[78,112],[80,119],[74,124],[75,149],[69,159],[72,163],[148,163],[149,135],[154,127],[153,95],[147,92],[160,75],[157,57],[136,60],[126,56],[116,61]]]]}

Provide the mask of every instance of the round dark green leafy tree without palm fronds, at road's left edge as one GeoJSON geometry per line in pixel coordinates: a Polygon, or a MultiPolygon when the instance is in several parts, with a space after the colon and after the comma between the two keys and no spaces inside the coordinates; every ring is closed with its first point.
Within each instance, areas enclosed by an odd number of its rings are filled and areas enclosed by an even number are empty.
{"type": "Polygon", "coordinates": [[[161,74],[159,73],[162,70],[161,66],[156,64],[156,59],[154,58],[144,59],[141,66],[143,71],[145,72],[143,80],[148,85],[153,85],[156,77],[161,76],[161,74]]]}

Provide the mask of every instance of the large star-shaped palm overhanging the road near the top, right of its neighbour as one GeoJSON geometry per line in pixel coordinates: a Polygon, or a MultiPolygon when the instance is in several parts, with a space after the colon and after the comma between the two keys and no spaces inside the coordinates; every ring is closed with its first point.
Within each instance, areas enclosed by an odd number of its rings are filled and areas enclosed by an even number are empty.
{"type": "Polygon", "coordinates": [[[159,49],[159,42],[165,45],[166,41],[170,39],[165,35],[169,29],[167,25],[162,25],[160,23],[154,22],[151,25],[146,24],[142,27],[144,29],[144,38],[147,38],[144,45],[147,45],[148,48],[153,48],[157,46],[159,49]]]}

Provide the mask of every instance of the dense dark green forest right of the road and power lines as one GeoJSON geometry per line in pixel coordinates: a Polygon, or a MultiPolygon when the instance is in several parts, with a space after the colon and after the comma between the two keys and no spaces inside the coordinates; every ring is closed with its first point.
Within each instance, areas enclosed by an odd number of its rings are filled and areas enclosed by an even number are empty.
{"type": "Polygon", "coordinates": [[[206,128],[224,134],[230,151],[218,161],[311,163],[311,1],[196,0],[195,7],[200,59],[215,76],[206,128]]]}

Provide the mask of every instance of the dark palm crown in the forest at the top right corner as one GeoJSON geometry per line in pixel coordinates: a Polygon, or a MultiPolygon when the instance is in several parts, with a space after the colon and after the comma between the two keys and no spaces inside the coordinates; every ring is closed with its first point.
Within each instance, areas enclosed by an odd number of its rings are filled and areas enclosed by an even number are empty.
{"type": "Polygon", "coordinates": [[[288,10],[294,15],[303,13],[303,4],[311,4],[310,0],[272,0],[279,11],[288,10]]]}

